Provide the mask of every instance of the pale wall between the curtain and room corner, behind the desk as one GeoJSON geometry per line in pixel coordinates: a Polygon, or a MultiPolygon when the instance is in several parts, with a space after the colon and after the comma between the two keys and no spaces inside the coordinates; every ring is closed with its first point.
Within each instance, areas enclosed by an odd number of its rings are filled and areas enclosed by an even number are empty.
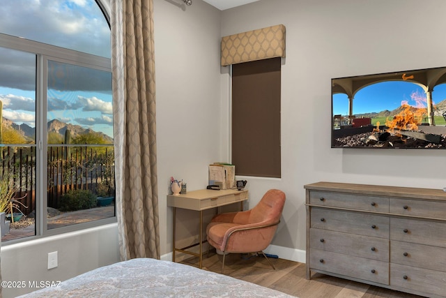
{"type": "MultiPolygon", "coordinates": [[[[189,191],[206,188],[208,165],[222,161],[224,146],[220,135],[221,12],[201,0],[194,0],[192,6],[178,3],[183,2],[154,0],[162,255],[171,252],[172,210],[166,202],[169,178],[183,179],[189,191]]],[[[197,212],[179,213],[186,219],[198,218],[197,212]]]]}

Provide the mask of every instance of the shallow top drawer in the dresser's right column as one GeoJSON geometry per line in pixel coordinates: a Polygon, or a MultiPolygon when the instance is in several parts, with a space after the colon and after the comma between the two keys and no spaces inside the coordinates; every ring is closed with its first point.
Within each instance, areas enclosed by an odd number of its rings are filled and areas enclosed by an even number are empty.
{"type": "Polygon", "coordinates": [[[446,218],[445,202],[391,199],[390,213],[430,218],[446,218]]]}

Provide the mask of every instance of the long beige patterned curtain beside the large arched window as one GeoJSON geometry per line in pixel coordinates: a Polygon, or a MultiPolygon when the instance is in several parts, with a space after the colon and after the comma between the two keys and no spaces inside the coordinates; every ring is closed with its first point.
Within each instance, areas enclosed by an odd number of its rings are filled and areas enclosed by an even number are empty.
{"type": "Polygon", "coordinates": [[[153,0],[110,3],[121,260],[160,259],[153,0]]]}

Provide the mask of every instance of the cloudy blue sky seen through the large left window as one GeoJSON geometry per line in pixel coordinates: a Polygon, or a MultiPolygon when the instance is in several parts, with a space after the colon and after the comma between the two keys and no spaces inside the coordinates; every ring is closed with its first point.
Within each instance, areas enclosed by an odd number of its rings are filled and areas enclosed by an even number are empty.
{"type": "MultiPolygon", "coordinates": [[[[0,33],[110,58],[110,30],[94,0],[1,0],[0,33]]],[[[113,136],[111,74],[50,62],[47,120],[113,136]],[[62,75],[61,75],[62,74],[62,75]]],[[[3,117],[36,126],[36,56],[0,45],[3,117]]]]}

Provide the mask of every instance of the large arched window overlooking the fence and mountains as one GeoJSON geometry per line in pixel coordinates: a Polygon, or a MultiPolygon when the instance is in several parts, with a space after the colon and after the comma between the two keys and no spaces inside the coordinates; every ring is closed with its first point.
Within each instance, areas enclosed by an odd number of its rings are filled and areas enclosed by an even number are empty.
{"type": "Polygon", "coordinates": [[[4,0],[1,9],[0,173],[15,190],[2,242],[116,221],[110,30],[100,6],[4,0]]]}

